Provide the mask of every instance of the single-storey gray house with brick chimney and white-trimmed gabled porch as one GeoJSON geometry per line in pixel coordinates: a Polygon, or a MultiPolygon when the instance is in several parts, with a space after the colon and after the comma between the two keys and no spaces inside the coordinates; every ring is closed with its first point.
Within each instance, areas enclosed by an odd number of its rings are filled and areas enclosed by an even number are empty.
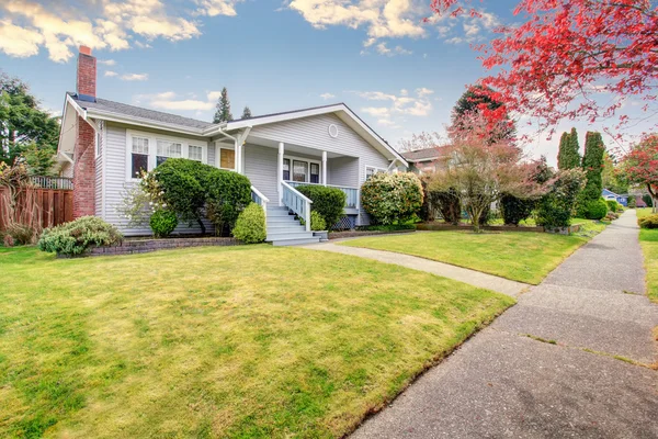
{"type": "MultiPolygon", "coordinates": [[[[265,207],[268,240],[299,244],[310,239],[310,201],[295,187],[324,184],[347,194],[347,227],[367,225],[361,184],[373,173],[406,169],[393,149],[345,104],[268,114],[213,124],[97,97],[97,60],[80,47],[75,93],[65,98],[58,160],[73,179],[73,217],[97,215],[125,235],[149,235],[129,227],[117,207],[141,170],[170,157],[203,161],[240,172],[252,199],[265,207]]],[[[212,230],[208,224],[208,229],[212,230]]],[[[181,224],[175,233],[198,233],[181,224]]]]}

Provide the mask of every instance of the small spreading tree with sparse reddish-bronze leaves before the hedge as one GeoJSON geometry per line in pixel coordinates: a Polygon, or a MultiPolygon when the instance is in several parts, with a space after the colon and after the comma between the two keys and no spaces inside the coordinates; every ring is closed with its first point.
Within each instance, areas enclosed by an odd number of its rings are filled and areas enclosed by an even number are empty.
{"type": "Polygon", "coordinates": [[[479,233],[483,214],[503,193],[529,196],[538,185],[532,181],[531,168],[521,162],[521,149],[501,134],[503,124],[492,124],[480,113],[466,113],[455,122],[432,188],[457,191],[474,232],[479,233]]]}

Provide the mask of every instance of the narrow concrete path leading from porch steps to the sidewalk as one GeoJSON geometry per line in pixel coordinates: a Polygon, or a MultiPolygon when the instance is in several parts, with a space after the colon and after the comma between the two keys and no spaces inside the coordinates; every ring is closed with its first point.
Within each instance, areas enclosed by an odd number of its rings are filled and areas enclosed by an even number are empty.
{"type": "MultiPolygon", "coordinates": [[[[352,238],[348,238],[352,239],[352,238]]],[[[427,271],[432,274],[454,279],[456,281],[469,283],[475,286],[485,288],[499,293],[518,296],[530,288],[526,283],[510,281],[497,275],[483,273],[480,271],[469,270],[451,266],[450,263],[436,262],[424,258],[418,258],[410,255],[395,254],[392,251],[372,250],[370,248],[345,247],[333,243],[311,244],[304,246],[306,249],[331,251],[342,255],[359,256],[362,258],[375,259],[382,262],[396,263],[398,266],[411,268],[413,270],[427,271]]]]}

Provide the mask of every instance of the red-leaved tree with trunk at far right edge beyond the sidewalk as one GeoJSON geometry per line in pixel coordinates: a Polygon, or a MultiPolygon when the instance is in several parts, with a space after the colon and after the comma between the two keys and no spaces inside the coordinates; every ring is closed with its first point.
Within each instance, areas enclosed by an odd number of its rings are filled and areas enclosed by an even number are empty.
{"type": "Polygon", "coordinates": [[[654,212],[656,212],[656,199],[658,194],[658,135],[647,136],[634,146],[631,153],[624,157],[622,169],[629,183],[647,188],[654,200],[654,212]]]}

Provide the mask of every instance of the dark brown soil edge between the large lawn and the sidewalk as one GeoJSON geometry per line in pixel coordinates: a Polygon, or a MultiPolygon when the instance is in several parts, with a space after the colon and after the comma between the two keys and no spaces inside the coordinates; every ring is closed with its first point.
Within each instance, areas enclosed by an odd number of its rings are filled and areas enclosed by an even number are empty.
{"type": "MultiPolygon", "coordinates": [[[[504,295],[502,293],[498,293],[498,294],[504,295]]],[[[418,380],[420,380],[426,373],[428,373],[430,370],[436,368],[438,365],[443,363],[445,360],[447,360],[447,358],[451,357],[462,346],[464,346],[464,344],[466,344],[468,340],[470,340],[473,337],[475,337],[477,334],[479,334],[484,329],[488,328],[506,311],[510,309],[511,307],[515,306],[519,303],[514,297],[511,297],[511,299],[513,300],[513,302],[509,306],[504,306],[499,312],[492,314],[489,318],[480,322],[473,329],[473,331],[470,334],[468,334],[466,337],[464,337],[463,340],[456,342],[454,346],[446,349],[445,351],[440,352],[436,356],[432,357],[426,364],[423,364],[423,367],[417,373],[415,373],[406,383],[404,383],[400,386],[400,389],[397,391],[397,393],[395,395],[385,397],[376,406],[367,409],[363,414],[363,416],[354,424],[354,426],[349,428],[342,436],[340,436],[340,438],[347,439],[350,435],[352,435],[354,431],[356,431],[368,419],[375,417],[384,408],[386,408],[388,405],[390,405],[393,402],[395,402],[395,399],[397,399],[402,393],[405,393],[413,383],[416,383],[418,380]]]]}

